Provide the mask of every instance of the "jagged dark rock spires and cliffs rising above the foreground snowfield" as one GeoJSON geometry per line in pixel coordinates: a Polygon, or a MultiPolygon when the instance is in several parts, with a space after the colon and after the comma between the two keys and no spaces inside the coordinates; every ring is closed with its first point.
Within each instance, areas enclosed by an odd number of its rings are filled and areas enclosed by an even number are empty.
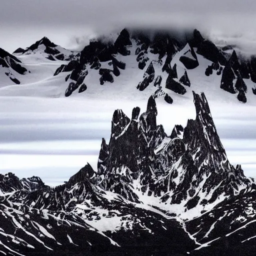
{"type": "Polygon", "coordinates": [[[160,196],[164,192],[161,201],[171,204],[186,201],[189,210],[214,203],[220,195],[234,195],[239,186],[250,184],[241,168],[228,162],[204,94],[193,95],[195,120],[188,120],[184,129],[176,125],[170,137],[156,124],[157,110],[152,96],[138,123],[136,109],[131,120],[122,111],[115,111],[109,144],[102,141],[98,161],[99,173],[105,173],[104,189],[116,186],[114,175],[122,180],[122,189],[118,188],[121,195],[137,201],[128,187],[132,187],[133,179],[139,178],[143,193],[160,196]],[[120,172],[125,177],[119,177],[120,172]],[[181,178],[172,181],[178,175],[181,178]],[[219,182],[223,186],[216,187],[219,182]]]}

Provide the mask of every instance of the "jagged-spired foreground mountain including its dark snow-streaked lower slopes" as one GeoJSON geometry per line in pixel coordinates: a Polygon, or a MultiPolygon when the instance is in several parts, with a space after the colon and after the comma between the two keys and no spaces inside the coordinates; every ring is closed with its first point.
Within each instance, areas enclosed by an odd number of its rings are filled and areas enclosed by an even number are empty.
{"type": "Polygon", "coordinates": [[[252,255],[256,185],[229,163],[204,93],[193,97],[195,119],[170,135],[153,96],[131,118],[116,109],[97,170],[87,163],[62,185],[1,175],[0,252],[252,255]]]}

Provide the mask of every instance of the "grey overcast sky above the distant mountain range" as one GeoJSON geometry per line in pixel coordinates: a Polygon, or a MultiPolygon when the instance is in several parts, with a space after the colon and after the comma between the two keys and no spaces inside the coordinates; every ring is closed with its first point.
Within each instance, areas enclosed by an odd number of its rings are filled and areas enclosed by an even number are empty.
{"type": "MultiPolygon", "coordinates": [[[[124,26],[193,26],[215,41],[254,50],[255,0],[5,0],[0,3],[0,47],[12,52],[42,36],[63,47],[86,44],[124,26]]],[[[81,46],[81,45],[79,45],[81,46]]]]}

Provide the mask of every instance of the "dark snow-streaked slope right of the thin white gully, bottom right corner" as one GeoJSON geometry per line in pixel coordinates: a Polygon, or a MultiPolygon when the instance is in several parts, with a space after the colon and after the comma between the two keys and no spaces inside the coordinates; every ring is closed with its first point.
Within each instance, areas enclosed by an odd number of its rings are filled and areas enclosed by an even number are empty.
{"type": "Polygon", "coordinates": [[[201,243],[209,246],[191,252],[192,255],[253,255],[255,246],[255,184],[246,191],[220,202],[212,210],[186,222],[201,243]]]}

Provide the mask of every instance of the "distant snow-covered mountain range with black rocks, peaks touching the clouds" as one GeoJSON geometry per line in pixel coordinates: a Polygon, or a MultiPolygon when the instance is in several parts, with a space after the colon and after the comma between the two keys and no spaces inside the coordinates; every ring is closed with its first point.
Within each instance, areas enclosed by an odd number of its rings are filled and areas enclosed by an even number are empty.
{"type": "Polygon", "coordinates": [[[43,37],[13,52],[30,73],[17,78],[22,86],[6,86],[13,82],[1,75],[0,96],[115,100],[153,95],[176,103],[194,90],[214,100],[254,104],[255,56],[245,57],[230,45],[217,47],[196,29],[182,39],[166,31],[149,34],[123,29],[114,40],[91,40],[80,52],[43,37]]]}

